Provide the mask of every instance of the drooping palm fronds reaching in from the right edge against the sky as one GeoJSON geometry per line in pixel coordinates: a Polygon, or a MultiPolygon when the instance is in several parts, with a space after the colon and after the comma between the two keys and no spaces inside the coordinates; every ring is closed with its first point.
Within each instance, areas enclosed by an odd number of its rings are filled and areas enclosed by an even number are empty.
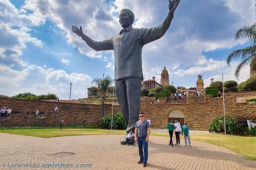
{"type": "MultiPolygon", "coordinates": [[[[235,69],[235,77],[239,77],[239,73],[242,68],[249,64],[250,61],[256,56],[256,23],[252,26],[243,26],[235,34],[235,39],[247,38],[251,43],[251,46],[237,49],[232,51],[227,57],[227,64],[230,66],[232,60],[241,58],[242,61],[237,65],[235,69]]],[[[250,64],[250,71],[256,70],[256,59],[254,58],[250,64]]]]}

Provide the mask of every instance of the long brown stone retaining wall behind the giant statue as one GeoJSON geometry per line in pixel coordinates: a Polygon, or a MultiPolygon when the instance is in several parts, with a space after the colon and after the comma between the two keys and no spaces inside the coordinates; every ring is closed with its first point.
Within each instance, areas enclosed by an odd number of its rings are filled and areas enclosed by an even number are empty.
{"type": "MultiPolygon", "coordinates": [[[[231,92],[225,93],[225,114],[229,117],[241,119],[256,119],[255,102],[237,103],[237,97],[243,100],[256,96],[256,91],[251,92],[231,92]]],[[[166,129],[170,121],[169,114],[173,110],[179,110],[184,114],[184,121],[188,122],[191,130],[208,130],[210,123],[217,117],[224,115],[223,97],[204,96],[204,101],[195,100],[195,96],[189,96],[186,103],[165,103],[165,99],[160,98],[159,104],[152,104],[151,97],[141,99],[141,112],[146,118],[151,120],[153,129],[166,129]]],[[[101,118],[102,106],[86,103],[68,103],[56,101],[24,100],[0,97],[0,106],[10,106],[13,111],[20,111],[20,114],[11,114],[10,121],[5,123],[10,126],[43,126],[43,121],[36,119],[36,115],[25,115],[26,109],[34,112],[35,109],[44,112],[46,126],[58,126],[61,119],[63,125],[82,125],[82,119],[87,118],[86,125],[97,126],[101,118]],[[54,112],[55,106],[59,106],[59,111],[54,112]],[[60,107],[71,107],[64,110],[60,107]],[[80,107],[89,107],[88,111],[80,110],[80,107]]],[[[114,106],[114,113],[120,111],[119,106],[114,106]]],[[[104,106],[104,115],[112,112],[112,106],[104,106]]],[[[170,115],[171,117],[171,115],[170,115]]],[[[173,117],[171,117],[173,118],[173,117]]],[[[0,118],[0,126],[4,119],[0,118]]]]}

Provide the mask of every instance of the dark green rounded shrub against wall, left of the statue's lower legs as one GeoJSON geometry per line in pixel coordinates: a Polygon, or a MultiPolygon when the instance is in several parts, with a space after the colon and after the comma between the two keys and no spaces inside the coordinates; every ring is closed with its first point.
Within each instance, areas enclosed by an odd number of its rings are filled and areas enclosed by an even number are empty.
{"type": "MultiPolygon", "coordinates": [[[[102,118],[102,127],[111,129],[112,114],[107,114],[102,118]]],[[[121,112],[113,114],[113,126],[112,129],[126,129],[127,125],[124,120],[124,116],[121,112]]]]}

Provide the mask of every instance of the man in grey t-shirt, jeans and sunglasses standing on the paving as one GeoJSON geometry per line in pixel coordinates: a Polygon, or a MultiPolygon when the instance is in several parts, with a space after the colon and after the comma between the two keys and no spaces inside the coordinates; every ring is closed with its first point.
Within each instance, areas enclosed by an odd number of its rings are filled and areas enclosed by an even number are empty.
{"type": "Polygon", "coordinates": [[[135,125],[135,141],[138,141],[140,160],[138,164],[143,163],[143,167],[147,166],[147,142],[149,141],[150,124],[144,119],[144,114],[139,114],[139,121],[135,125]],[[143,154],[144,151],[144,154],[143,154]]]}

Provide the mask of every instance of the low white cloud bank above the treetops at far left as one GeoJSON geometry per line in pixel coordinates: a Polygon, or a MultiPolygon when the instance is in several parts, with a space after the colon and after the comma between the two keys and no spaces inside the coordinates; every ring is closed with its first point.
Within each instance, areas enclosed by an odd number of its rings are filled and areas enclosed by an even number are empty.
{"type": "Polygon", "coordinates": [[[63,70],[43,69],[35,65],[30,65],[21,71],[12,70],[3,64],[0,66],[2,68],[0,92],[8,96],[24,92],[35,95],[49,92],[57,94],[60,99],[67,99],[70,93],[70,82],[72,82],[71,97],[81,98],[87,93],[86,88],[92,81],[92,78],[86,74],[67,74],[63,70]],[[8,81],[6,81],[7,77],[8,81]]]}

